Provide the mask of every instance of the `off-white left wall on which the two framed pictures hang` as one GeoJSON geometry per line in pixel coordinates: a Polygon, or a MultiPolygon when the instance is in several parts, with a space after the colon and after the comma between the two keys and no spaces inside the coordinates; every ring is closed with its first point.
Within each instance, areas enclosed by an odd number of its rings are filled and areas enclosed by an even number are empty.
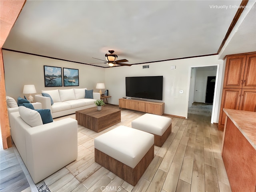
{"type": "MultiPolygon", "coordinates": [[[[34,84],[36,94],[41,94],[41,90],[87,88],[96,89],[96,83],[104,82],[105,69],[95,66],[66,62],[62,60],[50,59],[29,54],[10,52],[3,50],[4,76],[6,84],[6,95],[17,100],[18,96],[23,97],[23,86],[34,84]],[[45,87],[44,86],[44,65],[78,69],[79,86],[45,87]]],[[[28,96],[28,95],[26,95],[28,96]]],[[[32,94],[34,96],[34,94],[32,94]]]]}

